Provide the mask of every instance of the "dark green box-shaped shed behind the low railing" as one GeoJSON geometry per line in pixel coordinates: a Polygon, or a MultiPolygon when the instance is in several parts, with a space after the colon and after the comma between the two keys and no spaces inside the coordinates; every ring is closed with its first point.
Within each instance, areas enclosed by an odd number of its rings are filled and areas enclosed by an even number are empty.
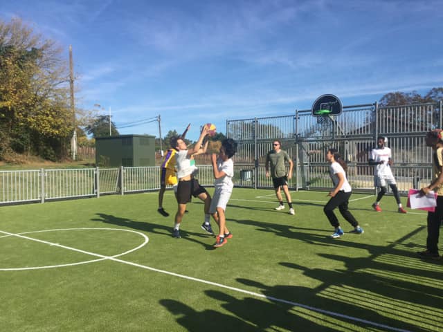
{"type": "Polygon", "coordinates": [[[96,138],[96,165],[99,167],[155,166],[155,137],[119,135],[96,138]]]}

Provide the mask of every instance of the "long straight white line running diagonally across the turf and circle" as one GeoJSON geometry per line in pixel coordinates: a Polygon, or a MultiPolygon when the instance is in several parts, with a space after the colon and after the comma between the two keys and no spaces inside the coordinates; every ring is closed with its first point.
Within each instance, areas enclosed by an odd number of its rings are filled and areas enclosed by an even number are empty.
{"type": "Polygon", "coordinates": [[[204,280],[204,279],[199,279],[199,278],[195,278],[195,277],[189,277],[188,275],[180,275],[179,273],[173,273],[173,272],[169,272],[169,271],[165,271],[165,270],[159,270],[158,268],[151,268],[150,266],[145,266],[145,265],[137,264],[137,263],[134,263],[132,261],[124,261],[123,259],[118,259],[118,258],[111,257],[111,256],[104,256],[104,255],[96,254],[94,252],[88,252],[88,251],[80,250],[80,249],[77,249],[77,248],[72,248],[72,247],[68,247],[68,246],[62,246],[59,243],[52,243],[52,242],[48,242],[48,241],[34,239],[32,237],[25,237],[24,235],[14,234],[14,233],[10,233],[10,232],[3,232],[1,230],[0,230],[0,232],[3,233],[3,234],[8,234],[10,236],[20,237],[22,239],[28,239],[28,240],[31,240],[31,241],[37,241],[39,243],[46,243],[46,244],[48,244],[50,246],[57,246],[57,247],[60,247],[60,248],[64,248],[64,249],[68,249],[68,250],[73,250],[73,251],[76,251],[76,252],[82,252],[84,254],[95,256],[95,257],[100,257],[102,259],[109,259],[111,261],[117,261],[118,263],[127,264],[127,265],[130,265],[130,266],[136,266],[137,268],[144,268],[145,270],[151,270],[151,271],[158,272],[158,273],[164,273],[165,275],[172,275],[174,277],[188,279],[188,280],[192,280],[194,282],[201,282],[202,284],[208,284],[208,285],[211,285],[211,286],[217,286],[217,287],[220,287],[220,288],[226,288],[226,289],[229,289],[230,291],[236,291],[236,292],[239,292],[239,293],[244,293],[244,294],[252,295],[252,296],[255,296],[255,297],[260,297],[260,298],[263,298],[263,299],[269,299],[270,301],[273,301],[273,302],[280,302],[280,303],[284,303],[284,304],[290,304],[291,306],[298,306],[300,308],[305,308],[307,310],[315,311],[317,313],[323,313],[325,315],[331,315],[331,316],[340,317],[340,318],[343,318],[343,319],[346,319],[346,320],[352,320],[354,322],[360,322],[360,323],[363,323],[363,324],[377,326],[377,327],[379,327],[381,329],[387,329],[387,330],[390,330],[390,331],[398,331],[398,332],[410,332],[409,330],[397,329],[396,327],[388,326],[388,325],[385,325],[385,324],[379,324],[379,323],[376,323],[376,322],[372,322],[370,320],[362,320],[361,318],[352,317],[352,316],[349,316],[349,315],[343,315],[341,313],[335,313],[334,311],[327,311],[327,310],[323,310],[323,309],[320,309],[320,308],[315,308],[314,306],[307,306],[305,304],[300,304],[300,303],[297,303],[297,302],[288,301],[286,299],[279,299],[278,297],[272,297],[272,296],[267,296],[267,295],[260,294],[260,293],[246,291],[246,290],[244,290],[242,288],[226,286],[224,284],[219,284],[217,282],[209,282],[209,281],[204,280]]]}

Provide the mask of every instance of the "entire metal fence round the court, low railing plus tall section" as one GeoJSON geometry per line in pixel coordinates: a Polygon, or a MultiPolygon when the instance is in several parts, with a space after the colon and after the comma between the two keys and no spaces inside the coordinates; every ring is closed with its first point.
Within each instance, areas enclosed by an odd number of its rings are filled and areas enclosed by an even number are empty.
{"type": "MultiPolygon", "coordinates": [[[[377,103],[343,107],[336,117],[314,117],[310,110],[293,116],[226,121],[226,136],[237,140],[235,186],[271,188],[265,176],[266,153],[273,140],[291,156],[294,167],[289,185],[295,190],[331,187],[325,151],[334,147],[347,160],[348,179],[355,192],[374,192],[368,155],[377,136],[387,136],[395,161],[399,191],[431,181],[432,151],[424,145],[426,132],[442,127],[443,102],[378,107],[377,103]]],[[[199,166],[199,182],[213,185],[210,165],[199,166]]],[[[102,194],[159,190],[159,167],[33,169],[0,171],[0,205],[41,202],[102,194]]]]}

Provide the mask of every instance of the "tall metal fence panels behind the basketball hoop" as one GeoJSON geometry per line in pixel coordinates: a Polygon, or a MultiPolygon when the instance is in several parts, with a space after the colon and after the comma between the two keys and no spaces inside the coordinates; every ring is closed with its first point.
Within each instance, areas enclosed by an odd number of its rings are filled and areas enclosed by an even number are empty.
{"type": "Polygon", "coordinates": [[[325,151],[334,147],[347,161],[354,191],[374,192],[368,156],[377,136],[387,136],[392,169],[399,191],[405,194],[431,181],[432,152],[424,145],[424,137],[427,131],[442,127],[442,109],[442,101],[400,107],[379,107],[375,102],[345,106],[340,116],[314,117],[311,110],[304,110],[293,116],[227,120],[226,136],[239,143],[234,157],[235,167],[240,168],[236,185],[272,187],[264,176],[264,163],[271,143],[278,139],[293,160],[289,181],[293,189],[330,189],[325,151]]]}

